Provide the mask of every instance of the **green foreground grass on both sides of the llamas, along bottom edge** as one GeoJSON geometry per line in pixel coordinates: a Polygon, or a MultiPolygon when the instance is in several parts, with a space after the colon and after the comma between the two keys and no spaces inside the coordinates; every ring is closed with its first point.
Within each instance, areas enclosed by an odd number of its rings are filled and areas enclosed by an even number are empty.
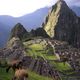
{"type": "MultiPolygon", "coordinates": [[[[28,70],[28,74],[29,74],[28,78],[29,80],[52,80],[51,78],[38,75],[37,73],[32,72],[30,70],[28,70]]],[[[6,73],[5,68],[0,68],[0,80],[12,80],[13,76],[14,72],[12,70],[6,73]]]]}

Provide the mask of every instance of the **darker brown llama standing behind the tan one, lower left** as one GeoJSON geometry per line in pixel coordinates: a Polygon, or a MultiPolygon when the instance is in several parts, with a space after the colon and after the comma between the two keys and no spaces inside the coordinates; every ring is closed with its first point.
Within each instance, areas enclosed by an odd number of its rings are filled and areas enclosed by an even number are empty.
{"type": "Polygon", "coordinates": [[[11,62],[7,62],[6,72],[8,72],[10,68],[15,71],[15,69],[19,67],[22,67],[22,61],[17,59],[12,60],[11,62]]]}

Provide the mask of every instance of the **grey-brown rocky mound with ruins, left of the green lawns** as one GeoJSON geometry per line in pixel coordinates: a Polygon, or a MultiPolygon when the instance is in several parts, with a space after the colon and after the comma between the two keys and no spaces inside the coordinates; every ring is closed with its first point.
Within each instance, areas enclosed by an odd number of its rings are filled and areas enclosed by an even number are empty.
{"type": "Polygon", "coordinates": [[[18,37],[13,37],[7,42],[6,47],[0,50],[0,58],[8,60],[22,59],[25,55],[25,48],[18,37]]]}

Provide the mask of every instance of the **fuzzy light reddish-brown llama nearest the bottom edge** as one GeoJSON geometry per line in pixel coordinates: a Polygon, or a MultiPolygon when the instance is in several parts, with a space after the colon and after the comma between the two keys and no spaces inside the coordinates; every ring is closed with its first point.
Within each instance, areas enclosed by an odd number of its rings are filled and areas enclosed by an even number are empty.
{"type": "Polygon", "coordinates": [[[27,70],[19,68],[15,70],[15,74],[12,80],[26,80],[27,78],[28,78],[27,70]]]}

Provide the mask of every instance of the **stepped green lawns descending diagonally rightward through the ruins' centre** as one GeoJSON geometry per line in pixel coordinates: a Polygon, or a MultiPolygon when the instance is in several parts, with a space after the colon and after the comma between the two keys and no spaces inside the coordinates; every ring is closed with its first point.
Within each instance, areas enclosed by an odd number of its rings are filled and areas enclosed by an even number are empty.
{"type": "MultiPolygon", "coordinates": [[[[25,47],[27,47],[27,44],[24,43],[25,47]]],[[[70,70],[71,67],[69,66],[68,63],[64,65],[63,62],[61,63],[56,63],[54,60],[57,59],[57,57],[54,54],[49,54],[48,52],[51,49],[47,49],[46,51],[44,50],[46,46],[43,44],[31,44],[28,46],[27,54],[30,56],[42,56],[44,59],[47,59],[50,61],[50,64],[52,64],[57,70],[59,71],[65,71],[65,70],[70,70]]],[[[51,52],[53,53],[53,51],[51,52]]]]}

